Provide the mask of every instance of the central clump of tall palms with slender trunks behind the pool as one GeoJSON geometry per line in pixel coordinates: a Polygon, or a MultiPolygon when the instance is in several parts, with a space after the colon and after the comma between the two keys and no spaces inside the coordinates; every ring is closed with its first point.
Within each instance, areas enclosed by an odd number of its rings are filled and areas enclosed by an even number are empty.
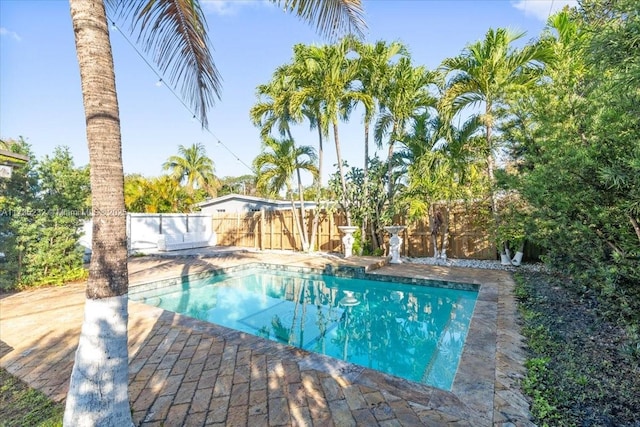
{"type": "MultiPolygon", "coordinates": [[[[345,172],[347,166],[341,154],[339,121],[349,120],[356,106],[361,105],[365,110],[365,152],[369,144],[369,126],[377,118],[377,142],[381,145],[383,138],[388,139],[389,151],[393,153],[394,144],[402,138],[412,120],[411,114],[435,104],[435,99],[429,94],[433,80],[433,73],[411,64],[406,48],[400,43],[380,41],[367,45],[353,37],[345,37],[331,45],[296,45],[292,61],[280,66],[271,82],[258,87],[258,102],[251,114],[263,136],[277,131],[290,140],[293,140],[291,127],[308,120],[310,127],[318,132],[319,175],[323,170],[323,143],[331,135],[341,186],[333,194],[339,198],[341,206],[349,206],[353,205],[353,200],[348,199],[350,178],[345,172]],[[396,57],[400,59],[394,63],[396,57]],[[403,103],[408,104],[405,106],[403,103]],[[376,111],[381,113],[375,115],[376,111]]],[[[367,153],[363,183],[368,181],[368,165],[367,153]]],[[[389,172],[393,165],[387,163],[389,172]]],[[[387,191],[392,192],[396,188],[397,176],[387,177],[387,191]]],[[[316,182],[316,188],[318,185],[316,182]]],[[[359,194],[360,204],[369,199],[368,188],[369,185],[364,185],[364,192],[359,194]]],[[[298,193],[303,194],[300,181],[298,193]]],[[[318,201],[319,194],[320,189],[317,188],[318,201]]],[[[350,224],[353,211],[346,209],[345,213],[350,224]]],[[[362,227],[363,235],[368,218],[365,214],[356,221],[362,227]]],[[[312,226],[313,231],[317,228],[317,219],[314,216],[316,225],[312,226]]],[[[370,227],[376,248],[381,241],[376,235],[380,228],[380,224],[371,224],[370,227]]]]}

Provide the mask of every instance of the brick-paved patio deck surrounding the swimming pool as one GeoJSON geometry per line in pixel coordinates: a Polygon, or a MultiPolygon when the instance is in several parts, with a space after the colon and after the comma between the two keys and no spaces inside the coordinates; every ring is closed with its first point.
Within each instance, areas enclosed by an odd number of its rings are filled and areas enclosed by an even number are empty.
{"type": "MultiPolygon", "coordinates": [[[[453,389],[416,384],[130,301],[129,393],[136,425],[533,425],[528,404],[514,387],[524,372],[524,354],[509,273],[383,265],[380,258],[367,257],[197,253],[133,258],[131,286],[251,262],[371,266],[373,274],[480,284],[453,389]]],[[[63,401],[83,306],[83,284],[2,295],[0,366],[63,401]]]]}

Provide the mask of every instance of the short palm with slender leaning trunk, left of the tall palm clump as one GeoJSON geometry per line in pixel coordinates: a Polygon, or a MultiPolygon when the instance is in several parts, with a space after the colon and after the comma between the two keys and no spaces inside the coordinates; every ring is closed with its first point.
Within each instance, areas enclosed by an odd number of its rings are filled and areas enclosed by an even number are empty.
{"type": "MultiPolygon", "coordinates": [[[[300,170],[310,172],[315,178],[318,168],[315,165],[316,154],[312,147],[296,147],[291,139],[281,141],[273,138],[263,139],[263,151],[253,161],[256,175],[258,176],[258,189],[270,195],[278,195],[285,190],[291,201],[291,212],[296,220],[296,228],[302,249],[309,250],[309,240],[307,230],[300,223],[300,217],[296,214],[295,201],[293,195],[293,175],[300,170]]],[[[303,196],[301,195],[301,198],[303,196]]],[[[302,199],[304,203],[304,198],[302,199]]]]}

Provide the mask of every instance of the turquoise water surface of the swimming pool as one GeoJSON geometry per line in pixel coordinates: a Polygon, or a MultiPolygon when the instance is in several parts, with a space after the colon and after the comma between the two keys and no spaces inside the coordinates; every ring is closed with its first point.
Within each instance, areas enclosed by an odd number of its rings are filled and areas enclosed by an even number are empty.
{"type": "Polygon", "coordinates": [[[130,298],[450,390],[478,292],[431,284],[263,266],[148,284],[130,298]]]}

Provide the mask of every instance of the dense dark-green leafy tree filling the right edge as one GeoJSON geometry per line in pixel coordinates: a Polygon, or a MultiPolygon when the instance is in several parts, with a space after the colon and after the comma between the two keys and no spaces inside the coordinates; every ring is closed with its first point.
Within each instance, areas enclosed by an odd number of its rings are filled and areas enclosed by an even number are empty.
{"type": "Polygon", "coordinates": [[[640,301],[639,22],[626,1],[552,17],[548,81],[520,101],[527,113],[507,129],[547,261],[612,301],[625,321],[640,301]]]}

